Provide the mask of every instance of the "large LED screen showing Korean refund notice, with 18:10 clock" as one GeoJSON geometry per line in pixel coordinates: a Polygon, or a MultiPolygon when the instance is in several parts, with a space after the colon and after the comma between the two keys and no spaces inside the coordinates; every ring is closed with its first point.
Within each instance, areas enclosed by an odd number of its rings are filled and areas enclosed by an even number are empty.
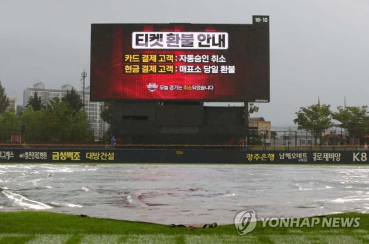
{"type": "Polygon", "coordinates": [[[252,24],[92,24],[92,101],[269,102],[269,16],[252,24]]]}

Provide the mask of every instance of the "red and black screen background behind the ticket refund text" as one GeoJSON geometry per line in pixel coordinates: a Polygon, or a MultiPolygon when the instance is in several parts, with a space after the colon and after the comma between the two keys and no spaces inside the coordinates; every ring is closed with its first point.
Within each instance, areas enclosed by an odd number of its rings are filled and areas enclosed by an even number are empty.
{"type": "MultiPolygon", "coordinates": [[[[143,63],[130,63],[142,65],[143,63]]],[[[151,64],[151,63],[149,63],[151,64]]],[[[157,63],[155,63],[157,64],[157,63]]],[[[223,24],[92,24],[90,99],[269,101],[269,25],[223,24]],[[132,49],[134,31],[227,32],[228,49],[132,49]],[[175,61],[173,74],[127,74],[125,54],[223,55],[225,63],[175,61]],[[182,73],[181,65],[218,65],[218,74],[182,73]],[[220,73],[221,65],[235,66],[234,74],[220,73]],[[151,92],[147,85],[158,88],[151,92]],[[159,86],[213,86],[214,90],[160,90],[159,86]]]]}

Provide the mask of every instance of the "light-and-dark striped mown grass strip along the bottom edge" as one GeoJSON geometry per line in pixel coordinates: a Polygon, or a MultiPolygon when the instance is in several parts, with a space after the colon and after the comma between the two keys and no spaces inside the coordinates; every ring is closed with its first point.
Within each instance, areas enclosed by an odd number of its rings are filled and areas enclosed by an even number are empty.
{"type": "Polygon", "coordinates": [[[141,243],[194,243],[194,244],[223,244],[223,243],[369,243],[369,235],[347,236],[347,235],[324,235],[324,234],[288,234],[288,235],[266,235],[255,236],[252,234],[246,236],[235,235],[23,235],[23,234],[0,234],[0,243],[4,244],[141,244],[141,243]]]}

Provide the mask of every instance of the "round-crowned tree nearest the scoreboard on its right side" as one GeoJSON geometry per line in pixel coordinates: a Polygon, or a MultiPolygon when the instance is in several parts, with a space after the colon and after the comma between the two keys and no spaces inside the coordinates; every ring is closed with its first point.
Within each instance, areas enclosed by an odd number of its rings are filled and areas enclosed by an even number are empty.
{"type": "Polygon", "coordinates": [[[318,137],[321,139],[321,133],[334,125],[331,121],[330,107],[331,105],[327,104],[301,107],[296,112],[297,118],[293,122],[298,125],[299,130],[309,131],[317,144],[318,137]]]}

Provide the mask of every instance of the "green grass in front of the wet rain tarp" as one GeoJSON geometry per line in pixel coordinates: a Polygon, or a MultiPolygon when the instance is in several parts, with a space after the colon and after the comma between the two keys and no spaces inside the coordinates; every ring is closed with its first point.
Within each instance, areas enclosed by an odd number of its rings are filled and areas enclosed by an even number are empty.
{"type": "Polygon", "coordinates": [[[369,214],[359,227],[262,227],[239,236],[233,224],[216,228],[169,227],[161,224],[87,218],[49,212],[0,212],[0,243],[369,243],[369,214]]]}

